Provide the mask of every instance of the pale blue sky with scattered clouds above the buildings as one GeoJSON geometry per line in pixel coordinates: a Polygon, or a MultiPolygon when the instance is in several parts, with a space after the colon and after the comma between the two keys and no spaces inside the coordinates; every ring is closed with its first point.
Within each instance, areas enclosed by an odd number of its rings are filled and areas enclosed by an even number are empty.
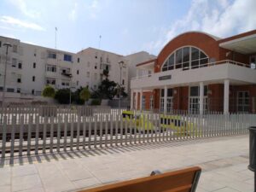
{"type": "Polygon", "coordinates": [[[55,48],[55,27],[57,49],[158,55],[182,32],[256,29],[256,0],[0,0],[0,36],[55,48]]]}

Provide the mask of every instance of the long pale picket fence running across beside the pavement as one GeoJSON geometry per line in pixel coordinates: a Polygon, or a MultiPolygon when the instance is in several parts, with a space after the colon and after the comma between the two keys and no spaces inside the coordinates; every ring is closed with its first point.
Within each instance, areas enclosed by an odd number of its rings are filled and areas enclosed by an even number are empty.
{"type": "Polygon", "coordinates": [[[122,115],[124,109],[97,108],[92,113],[59,109],[42,113],[33,107],[24,113],[20,107],[2,108],[0,157],[240,135],[256,125],[256,114],[248,113],[201,116],[133,111],[129,119],[122,115]],[[173,125],[166,128],[171,121],[173,125]]]}

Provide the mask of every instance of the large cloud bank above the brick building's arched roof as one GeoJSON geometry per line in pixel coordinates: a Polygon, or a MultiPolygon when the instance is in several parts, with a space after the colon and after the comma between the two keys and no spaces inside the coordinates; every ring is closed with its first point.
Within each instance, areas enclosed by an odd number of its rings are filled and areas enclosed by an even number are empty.
{"type": "Polygon", "coordinates": [[[208,32],[220,38],[256,28],[256,1],[193,0],[191,7],[181,20],[177,20],[161,37],[144,46],[149,52],[157,53],[178,34],[187,31],[208,32]]]}

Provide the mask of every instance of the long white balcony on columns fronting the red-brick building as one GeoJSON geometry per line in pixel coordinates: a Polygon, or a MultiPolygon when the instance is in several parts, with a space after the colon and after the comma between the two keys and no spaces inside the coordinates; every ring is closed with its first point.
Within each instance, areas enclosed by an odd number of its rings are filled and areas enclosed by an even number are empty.
{"type": "Polygon", "coordinates": [[[180,86],[199,82],[220,83],[224,79],[236,83],[256,83],[256,70],[250,65],[236,61],[217,61],[201,66],[178,68],[170,71],[139,76],[131,79],[131,89],[159,88],[160,86],[180,86]]]}

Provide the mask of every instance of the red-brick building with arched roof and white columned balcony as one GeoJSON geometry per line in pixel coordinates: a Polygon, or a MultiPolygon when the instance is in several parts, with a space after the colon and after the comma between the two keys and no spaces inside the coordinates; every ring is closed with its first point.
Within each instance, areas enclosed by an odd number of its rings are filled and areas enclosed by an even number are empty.
{"type": "Polygon", "coordinates": [[[193,113],[256,112],[256,30],[229,38],[185,32],[137,64],[131,108],[193,113]]]}

